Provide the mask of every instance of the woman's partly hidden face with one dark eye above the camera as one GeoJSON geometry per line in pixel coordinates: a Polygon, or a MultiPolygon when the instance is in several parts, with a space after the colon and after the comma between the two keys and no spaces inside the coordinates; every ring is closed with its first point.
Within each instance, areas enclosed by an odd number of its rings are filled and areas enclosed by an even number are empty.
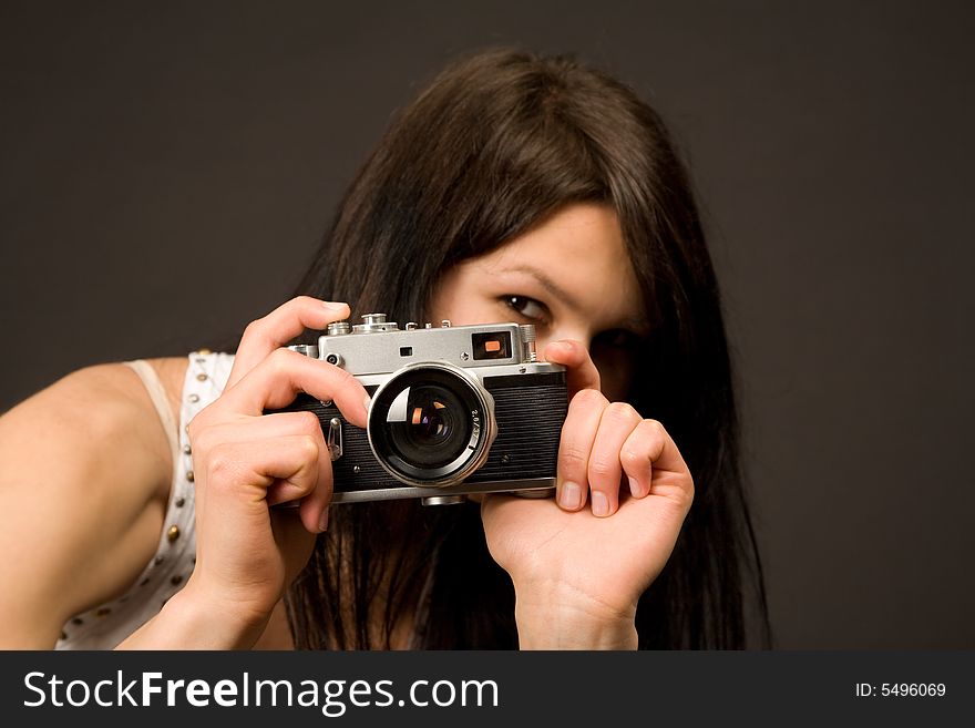
{"type": "Polygon", "coordinates": [[[431,317],[454,326],[534,324],[537,349],[582,341],[610,401],[626,399],[639,339],[649,335],[643,295],[616,213],[574,204],[440,281],[431,317]]]}

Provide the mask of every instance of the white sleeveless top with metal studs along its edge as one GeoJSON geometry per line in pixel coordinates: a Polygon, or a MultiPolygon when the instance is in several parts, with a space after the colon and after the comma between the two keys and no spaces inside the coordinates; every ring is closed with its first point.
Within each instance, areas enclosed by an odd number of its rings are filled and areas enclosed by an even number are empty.
{"type": "Polygon", "coordinates": [[[126,361],[145,384],[173,451],[173,484],[155,556],[124,594],[75,615],[64,625],[55,649],[111,649],[154,617],[183,588],[196,563],[193,455],[186,428],[199,410],[219,397],[234,357],[195,351],[183,382],[179,422],[163,384],[145,361],[126,361]]]}

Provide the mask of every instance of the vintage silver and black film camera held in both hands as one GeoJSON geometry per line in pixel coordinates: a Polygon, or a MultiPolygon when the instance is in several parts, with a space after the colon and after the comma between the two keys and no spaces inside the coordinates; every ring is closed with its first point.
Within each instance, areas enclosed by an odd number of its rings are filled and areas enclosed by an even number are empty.
{"type": "Polygon", "coordinates": [[[440,327],[383,314],[331,324],[318,345],[289,347],[340,367],[371,396],[366,430],[332,402],[300,394],[331,451],[337,503],[472,493],[545,496],[555,486],[567,410],[565,368],[536,361],[533,326],[440,327]]]}

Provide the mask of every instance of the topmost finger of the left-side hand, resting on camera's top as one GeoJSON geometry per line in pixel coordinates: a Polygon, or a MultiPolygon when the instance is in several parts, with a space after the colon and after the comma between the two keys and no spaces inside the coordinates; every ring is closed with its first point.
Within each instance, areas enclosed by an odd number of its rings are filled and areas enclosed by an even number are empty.
{"type": "Polygon", "coordinates": [[[298,296],[252,321],[240,337],[227,387],[237,383],[271,351],[285,346],[305,329],[325,329],[329,324],[348,318],[349,314],[348,304],[298,296]]]}

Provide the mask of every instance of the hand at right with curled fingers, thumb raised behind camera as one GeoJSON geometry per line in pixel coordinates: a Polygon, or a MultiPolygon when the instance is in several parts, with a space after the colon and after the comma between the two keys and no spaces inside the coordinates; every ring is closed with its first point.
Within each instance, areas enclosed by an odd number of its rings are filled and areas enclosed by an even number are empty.
{"type": "Polygon", "coordinates": [[[488,546],[514,583],[523,649],[635,648],[637,601],[674,550],[694,481],[659,422],[602,394],[582,344],[550,344],[544,358],[567,368],[571,397],[556,499],[485,498],[488,546]]]}

